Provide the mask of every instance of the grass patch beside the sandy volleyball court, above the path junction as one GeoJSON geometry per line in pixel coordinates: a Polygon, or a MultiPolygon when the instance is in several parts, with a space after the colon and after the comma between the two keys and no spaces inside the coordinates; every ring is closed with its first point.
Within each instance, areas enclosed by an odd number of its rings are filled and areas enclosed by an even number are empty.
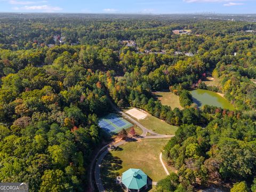
{"type": "Polygon", "coordinates": [[[178,129],[177,126],[170,125],[152,115],[148,115],[145,119],[140,119],[139,123],[159,134],[175,134],[175,131],[178,129]]]}

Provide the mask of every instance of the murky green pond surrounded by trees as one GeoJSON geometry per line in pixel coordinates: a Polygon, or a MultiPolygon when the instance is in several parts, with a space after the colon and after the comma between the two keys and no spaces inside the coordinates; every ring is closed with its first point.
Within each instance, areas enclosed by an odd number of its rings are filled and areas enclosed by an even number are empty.
{"type": "Polygon", "coordinates": [[[197,89],[191,91],[191,94],[193,96],[193,102],[195,102],[198,107],[210,105],[229,110],[235,109],[235,107],[230,102],[221,97],[219,94],[214,93],[213,91],[197,89]]]}

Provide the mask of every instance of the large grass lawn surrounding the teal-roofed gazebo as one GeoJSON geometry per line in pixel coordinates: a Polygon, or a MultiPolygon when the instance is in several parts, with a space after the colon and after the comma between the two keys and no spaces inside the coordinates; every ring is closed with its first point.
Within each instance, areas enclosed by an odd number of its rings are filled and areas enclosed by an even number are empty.
{"type": "Polygon", "coordinates": [[[141,139],[110,151],[101,164],[101,179],[107,191],[122,191],[115,178],[130,168],[141,169],[153,181],[166,177],[159,154],[170,139],[141,139]]]}

